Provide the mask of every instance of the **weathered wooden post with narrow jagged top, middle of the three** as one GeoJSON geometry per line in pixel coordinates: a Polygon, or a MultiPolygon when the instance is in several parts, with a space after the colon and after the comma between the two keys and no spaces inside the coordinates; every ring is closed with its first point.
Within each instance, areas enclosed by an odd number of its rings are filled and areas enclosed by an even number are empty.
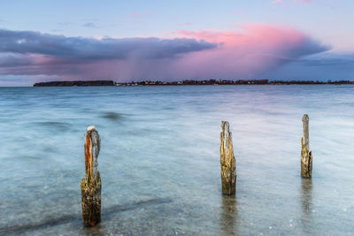
{"type": "Polygon", "coordinates": [[[220,133],[220,164],[221,185],[223,194],[235,194],[236,192],[236,160],[232,143],[232,133],[227,121],[221,121],[220,133]]]}

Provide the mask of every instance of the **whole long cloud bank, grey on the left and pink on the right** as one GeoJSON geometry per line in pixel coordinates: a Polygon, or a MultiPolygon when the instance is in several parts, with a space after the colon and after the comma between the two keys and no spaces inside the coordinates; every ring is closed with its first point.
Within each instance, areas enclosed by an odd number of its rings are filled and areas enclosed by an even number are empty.
{"type": "Polygon", "coordinates": [[[173,39],[101,40],[0,30],[0,73],[63,80],[259,78],[329,48],[291,27],[180,31],[173,39]]]}

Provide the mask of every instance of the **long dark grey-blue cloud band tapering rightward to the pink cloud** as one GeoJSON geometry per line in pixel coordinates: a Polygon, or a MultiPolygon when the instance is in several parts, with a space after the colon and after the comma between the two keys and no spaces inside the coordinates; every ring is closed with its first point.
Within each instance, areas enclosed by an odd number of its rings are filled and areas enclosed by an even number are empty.
{"type": "Polygon", "coordinates": [[[65,37],[34,31],[0,30],[0,53],[37,54],[71,61],[100,61],[127,57],[165,58],[213,49],[217,45],[194,39],[65,37]]]}

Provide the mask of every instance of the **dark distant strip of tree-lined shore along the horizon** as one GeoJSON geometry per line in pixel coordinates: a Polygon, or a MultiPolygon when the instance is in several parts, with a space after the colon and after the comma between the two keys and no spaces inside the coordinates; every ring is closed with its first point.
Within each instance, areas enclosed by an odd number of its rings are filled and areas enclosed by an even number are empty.
{"type": "Polygon", "coordinates": [[[319,84],[354,84],[350,80],[182,80],[115,82],[113,80],[73,80],[38,82],[34,87],[72,87],[72,86],[183,86],[183,85],[319,85],[319,84]]]}

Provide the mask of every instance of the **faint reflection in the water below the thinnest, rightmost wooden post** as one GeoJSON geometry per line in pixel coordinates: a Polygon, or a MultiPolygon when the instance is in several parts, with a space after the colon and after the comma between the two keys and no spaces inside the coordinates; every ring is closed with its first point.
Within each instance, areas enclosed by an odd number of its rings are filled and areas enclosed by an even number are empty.
{"type": "Polygon", "coordinates": [[[301,205],[303,207],[302,228],[304,232],[312,232],[312,179],[301,180],[301,205]]]}

